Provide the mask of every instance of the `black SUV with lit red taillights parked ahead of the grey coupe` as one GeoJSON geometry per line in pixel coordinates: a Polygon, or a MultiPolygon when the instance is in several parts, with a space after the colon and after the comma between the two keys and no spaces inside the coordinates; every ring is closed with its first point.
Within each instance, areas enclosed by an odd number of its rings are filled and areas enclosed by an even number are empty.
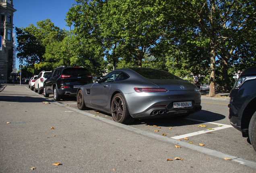
{"type": "Polygon", "coordinates": [[[93,76],[87,68],[60,66],[43,82],[43,95],[53,94],[60,101],[62,96],[76,96],[77,89],[88,83],[93,83],[93,76]]]}

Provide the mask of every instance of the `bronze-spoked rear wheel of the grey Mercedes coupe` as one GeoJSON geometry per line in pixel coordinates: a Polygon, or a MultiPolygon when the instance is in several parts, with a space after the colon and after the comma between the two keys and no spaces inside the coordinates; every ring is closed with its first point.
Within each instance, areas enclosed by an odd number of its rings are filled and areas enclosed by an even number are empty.
{"type": "Polygon", "coordinates": [[[134,121],[131,117],[124,97],[118,93],[111,101],[111,113],[114,121],[122,124],[130,124],[134,121]]]}

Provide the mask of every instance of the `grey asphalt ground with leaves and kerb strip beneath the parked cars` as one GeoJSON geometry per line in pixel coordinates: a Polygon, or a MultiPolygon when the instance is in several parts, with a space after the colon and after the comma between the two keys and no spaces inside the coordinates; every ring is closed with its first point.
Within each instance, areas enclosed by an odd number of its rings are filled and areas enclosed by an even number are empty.
{"type": "Polygon", "coordinates": [[[230,126],[227,104],[202,98],[202,111],[186,119],[122,125],[78,110],[74,98],[54,102],[27,85],[1,85],[0,172],[256,172],[256,152],[230,126]]]}

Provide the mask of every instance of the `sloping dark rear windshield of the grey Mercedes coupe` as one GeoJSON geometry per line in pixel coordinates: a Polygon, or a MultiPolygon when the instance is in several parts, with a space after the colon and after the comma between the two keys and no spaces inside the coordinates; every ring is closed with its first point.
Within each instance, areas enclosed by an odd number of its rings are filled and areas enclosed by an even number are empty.
{"type": "Polygon", "coordinates": [[[153,68],[130,68],[141,76],[150,79],[181,79],[169,72],[163,70],[157,70],[153,68]]]}

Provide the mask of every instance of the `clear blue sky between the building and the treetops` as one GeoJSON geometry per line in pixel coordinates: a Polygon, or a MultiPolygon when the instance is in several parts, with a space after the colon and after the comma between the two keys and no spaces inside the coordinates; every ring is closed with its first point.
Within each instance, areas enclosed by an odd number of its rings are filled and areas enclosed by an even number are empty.
{"type": "MultiPolygon", "coordinates": [[[[14,28],[25,28],[29,24],[36,26],[37,22],[48,18],[54,26],[69,30],[65,18],[72,4],[76,4],[75,0],[13,0],[13,8],[17,10],[13,14],[13,26],[14,28]]],[[[74,28],[71,26],[72,29],[74,28]]],[[[15,29],[13,33],[16,34],[15,29]]],[[[16,60],[16,67],[18,66],[19,60],[16,60]]]]}

